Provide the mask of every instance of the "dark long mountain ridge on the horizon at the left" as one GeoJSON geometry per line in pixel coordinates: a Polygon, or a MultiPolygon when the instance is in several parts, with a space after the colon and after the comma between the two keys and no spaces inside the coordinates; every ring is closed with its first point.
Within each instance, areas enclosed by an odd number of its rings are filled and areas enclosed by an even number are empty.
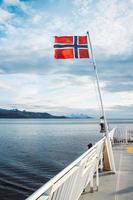
{"type": "Polygon", "coordinates": [[[28,111],[20,111],[18,109],[1,109],[0,108],[0,118],[41,118],[41,119],[65,119],[65,116],[55,116],[49,113],[42,112],[28,112],[28,111]]]}

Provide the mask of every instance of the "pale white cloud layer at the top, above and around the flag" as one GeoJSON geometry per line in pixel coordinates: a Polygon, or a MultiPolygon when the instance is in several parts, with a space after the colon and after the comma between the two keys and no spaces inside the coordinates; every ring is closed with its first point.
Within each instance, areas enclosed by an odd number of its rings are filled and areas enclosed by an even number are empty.
{"type": "MultiPolygon", "coordinates": [[[[20,4],[17,0],[6,2],[20,4]]],[[[34,49],[39,53],[40,49],[40,54],[42,54],[42,49],[49,49],[49,51],[44,51],[45,55],[49,55],[53,35],[85,34],[87,30],[90,30],[96,57],[103,58],[101,54],[104,58],[131,54],[133,51],[133,5],[131,2],[116,0],[100,0],[96,3],[91,0],[74,0],[73,2],[73,13],[70,17],[49,15],[46,11],[36,12],[21,2],[21,6],[27,9],[29,19],[26,22],[19,22],[19,24],[24,23],[22,27],[13,26],[12,23],[7,25],[7,41],[5,40],[3,44],[3,51],[7,46],[10,49],[16,49],[15,53],[20,49],[24,52],[26,49],[28,51],[34,49]],[[15,44],[13,37],[15,37],[15,44]]],[[[3,19],[10,18],[7,11],[2,10],[2,12],[3,19]]]]}

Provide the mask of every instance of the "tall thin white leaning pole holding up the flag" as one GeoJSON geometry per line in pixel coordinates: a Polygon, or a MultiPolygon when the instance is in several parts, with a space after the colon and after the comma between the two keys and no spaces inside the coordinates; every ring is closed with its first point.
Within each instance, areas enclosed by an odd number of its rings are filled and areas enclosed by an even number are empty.
{"type": "Polygon", "coordinates": [[[97,66],[96,66],[96,62],[95,62],[95,58],[94,58],[94,54],[93,54],[93,48],[92,48],[92,44],[91,44],[89,32],[87,32],[87,37],[88,37],[88,41],[89,41],[89,45],[90,45],[90,51],[91,51],[91,57],[92,57],[92,64],[93,64],[95,75],[96,75],[96,83],[97,83],[97,89],[98,89],[100,104],[101,104],[102,116],[104,118],[104,123],[105,123],[105,135],[106,135],[107,144],[108,144],[108,153],[109,153],[110,167],[111,167],[111,170],[115,173],[116,169],[115,169],[115,163],[114,163],[114,156],[113,156],[113,151],[112,151],[112,145],[111,145],[111,141],[110,141],[110,138],[109,138],[109,130],[108,130],[108,125],[107,125],[105,110],[104,110],[104,106],[103,106],[102,93],[101,93],[100,84],[99,84],[99,76],[98,76],[98,72],[97,72],[97,66]]]}

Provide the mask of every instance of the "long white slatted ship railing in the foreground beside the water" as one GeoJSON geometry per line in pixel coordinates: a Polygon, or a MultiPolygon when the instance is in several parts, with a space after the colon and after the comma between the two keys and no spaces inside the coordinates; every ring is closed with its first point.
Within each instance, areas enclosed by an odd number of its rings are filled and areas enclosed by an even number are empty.
{"type": "Polygon", "coordinates": [[[26,200],[78,200],[88,184],[93,188],[94,175],[98,187],[104,142],[105,137],[26,200]]]}

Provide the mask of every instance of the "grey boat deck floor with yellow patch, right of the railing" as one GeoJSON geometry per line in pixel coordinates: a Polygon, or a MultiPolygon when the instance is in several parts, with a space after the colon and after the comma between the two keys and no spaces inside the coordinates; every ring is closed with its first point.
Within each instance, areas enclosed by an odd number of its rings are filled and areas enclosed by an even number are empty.
{"type": "Polygon", "coordinates": [[[133,199],[133,144],[113,147],[116,174],[100,173],[98,192],[90,193],[89,187],[80,200],[132,200],[133,199]]]}

